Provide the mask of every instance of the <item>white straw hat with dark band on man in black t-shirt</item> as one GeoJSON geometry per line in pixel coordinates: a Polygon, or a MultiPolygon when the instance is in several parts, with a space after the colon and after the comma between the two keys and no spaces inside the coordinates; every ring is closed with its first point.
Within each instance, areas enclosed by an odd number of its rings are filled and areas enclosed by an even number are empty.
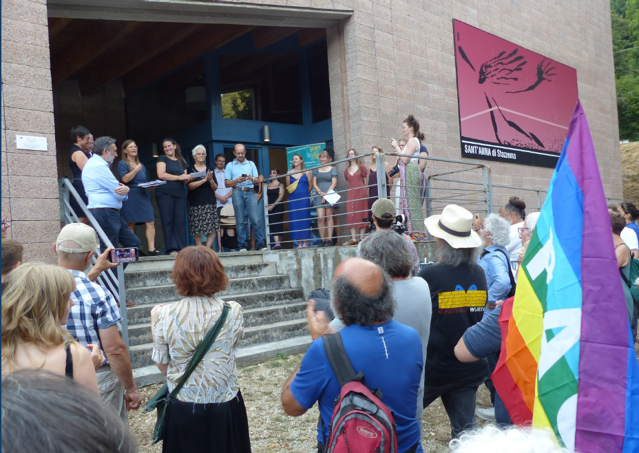
{"type": "Polygon", "coordinates": [[[453,249],[472,249],[481,245],[481,238],[472,231],[472,214],[457,204],[449,204],[441,215],[431,215],[423,224],[430,234],[445,240],[453,249]]]}

